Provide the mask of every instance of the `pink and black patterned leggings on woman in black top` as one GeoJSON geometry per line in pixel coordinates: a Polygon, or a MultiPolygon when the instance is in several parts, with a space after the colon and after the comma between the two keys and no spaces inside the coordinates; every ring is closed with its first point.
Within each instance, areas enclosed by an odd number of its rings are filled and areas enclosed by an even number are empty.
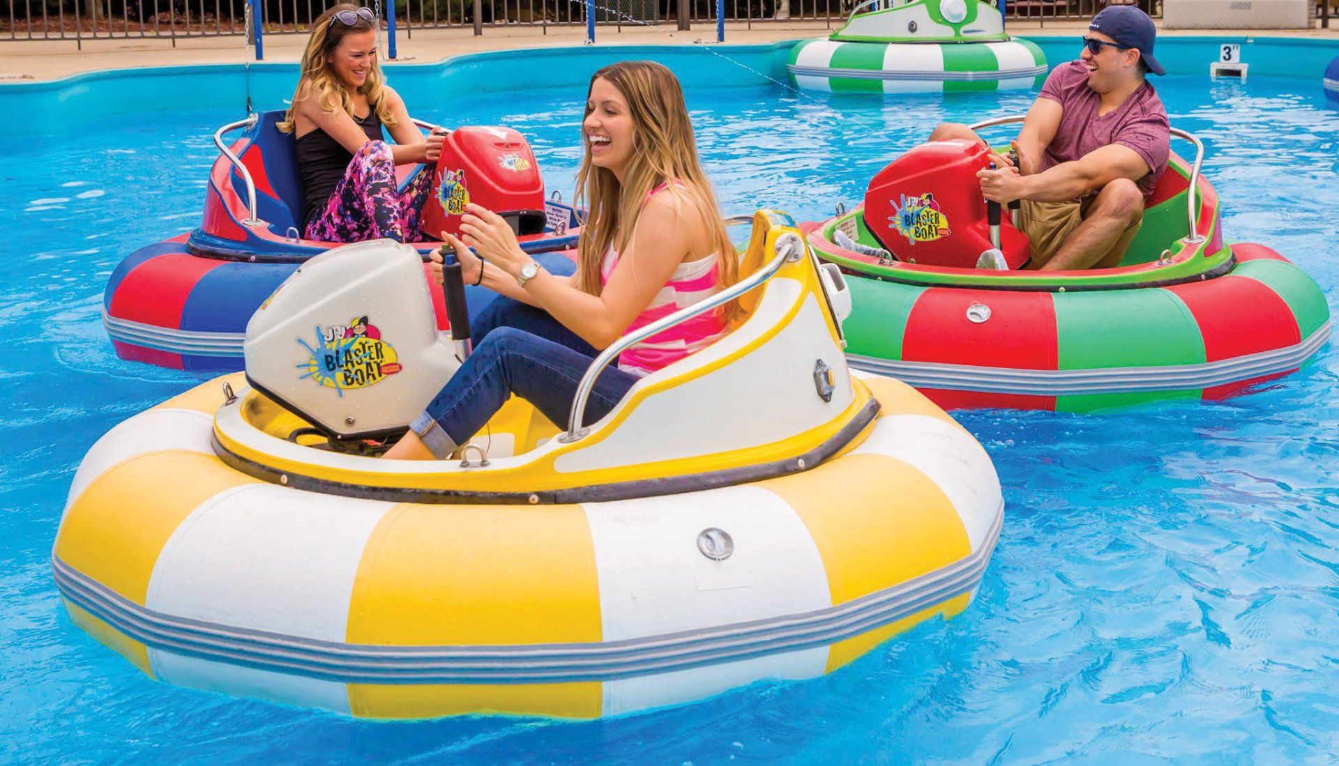
{"type": "Polygon", "coordinates": [[[403,192],[396,189],[395,159],[384,141],[368,141],[358,150],[335,185],[325,210],[307,224],[307,238],[323,242],[362,242],[383,237],[422,242],[423,202],[432,190],[430,167],[419,171],[403,192]]]}

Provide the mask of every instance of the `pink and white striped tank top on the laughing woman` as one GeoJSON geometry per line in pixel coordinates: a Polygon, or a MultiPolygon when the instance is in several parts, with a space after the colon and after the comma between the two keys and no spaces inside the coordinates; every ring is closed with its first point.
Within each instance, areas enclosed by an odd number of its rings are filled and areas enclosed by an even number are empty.
{"type": "MultiPolygon", "coordinates": [[[[647,194],[647,201],[668,187],[661,183],[647,194]]],[[[600,264],[600,284],[609,281],[609,275],[619,265],[619,253],[613,248],[600,264]]],[[[625,332],[651,324],[670,316],[680,308],[687,308],[703,299],[720,292],[720,254],[712,253],[696,261],[684,261],[670,275],[651,304],[632,320],[625,332]]],[[[661,367],[711,346],[726,335],[726,323],[719,311],[708,311],[682,321],[664,332],[637,343],[619,355],[619,370],[639,378],[649,375],[661,367]]]]}

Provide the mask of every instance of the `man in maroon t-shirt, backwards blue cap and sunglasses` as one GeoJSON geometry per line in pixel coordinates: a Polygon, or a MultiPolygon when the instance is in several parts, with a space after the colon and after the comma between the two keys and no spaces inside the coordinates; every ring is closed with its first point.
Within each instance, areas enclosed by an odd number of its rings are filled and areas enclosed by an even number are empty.
{"type": "MultiPolygon", "coordinates": [[[[987,200],[1022,200],[1019,228],[1032,244],[1034,269],[1111,268],[1144,221],[1144,202],[1166,170],[1168,114],[1146,72],[1153,20],[1133,5],[1110,5],[1089,25],[1077,62],[1056,67],[1012,142],[1019,167],[996,157],[981,170],[987,200]]],[[[973,138],[944,123],[931,141],[973,138]]]]}

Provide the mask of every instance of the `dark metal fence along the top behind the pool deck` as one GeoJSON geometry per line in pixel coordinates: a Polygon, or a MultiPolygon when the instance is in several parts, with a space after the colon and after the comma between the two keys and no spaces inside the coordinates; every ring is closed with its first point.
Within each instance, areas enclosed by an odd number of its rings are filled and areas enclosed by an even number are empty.
{"type": "MultiPolygon", "coordinates": [[[[996,0],[1008,19],[1047,20],[1093,16],[1113,0],[996,0]]],[[[1119,0],[1115,0],[1119,1],[1119,0]]],[[[1135,0],[1149,15],[1162,15],[1164,0],[1135,0]]],[[[7,0],[0,17],[0,40],[84,40],[106,37],[200,37],[245,35],[250,25],[249,0],[7,0]]],[[[1315,0],[1315,19],[1328,25],[1328,5],[1315,0]]],[[[265,35],[305,33],[313,19],[333,0],[257,0],[264,5],[265,35]]],[[[374,1],[384,19],[388,8],[374,1]]],[[[396,33],[415,29],[586,24],[585,0],[395,0],[396,33]]],[[[854,0],[724,0],[726,21],[825,21],[846,19],[854,0]]],[[[596,0],[595,20],[601,25],[643,25],[716,20],[715,0],[596,0]]]]}

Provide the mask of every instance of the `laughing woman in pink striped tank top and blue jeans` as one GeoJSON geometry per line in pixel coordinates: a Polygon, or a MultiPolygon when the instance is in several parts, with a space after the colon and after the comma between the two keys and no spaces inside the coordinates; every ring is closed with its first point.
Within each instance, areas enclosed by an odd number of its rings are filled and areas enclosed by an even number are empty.
{"type": "MultiPolygon", "coordinates": [[[[628,331],[738,281],[738,258],[698,159],[679,80],[653,62],[620,62],[590,78],[577,200],[589,208],[577,273],[530,260],[507,224],[469,206],[455,248],[466,280],[501,297],[475,320],[474,354],[387,458],[446,458],[511,394],[565,425],[599,350],[628,331]],[[471,252],[473,250],[473,252],[471,252]]],[[[623,352],[596,380],[586,422],[603,418],[641,376],[726,335],[735,303],[623,352]]]]}

